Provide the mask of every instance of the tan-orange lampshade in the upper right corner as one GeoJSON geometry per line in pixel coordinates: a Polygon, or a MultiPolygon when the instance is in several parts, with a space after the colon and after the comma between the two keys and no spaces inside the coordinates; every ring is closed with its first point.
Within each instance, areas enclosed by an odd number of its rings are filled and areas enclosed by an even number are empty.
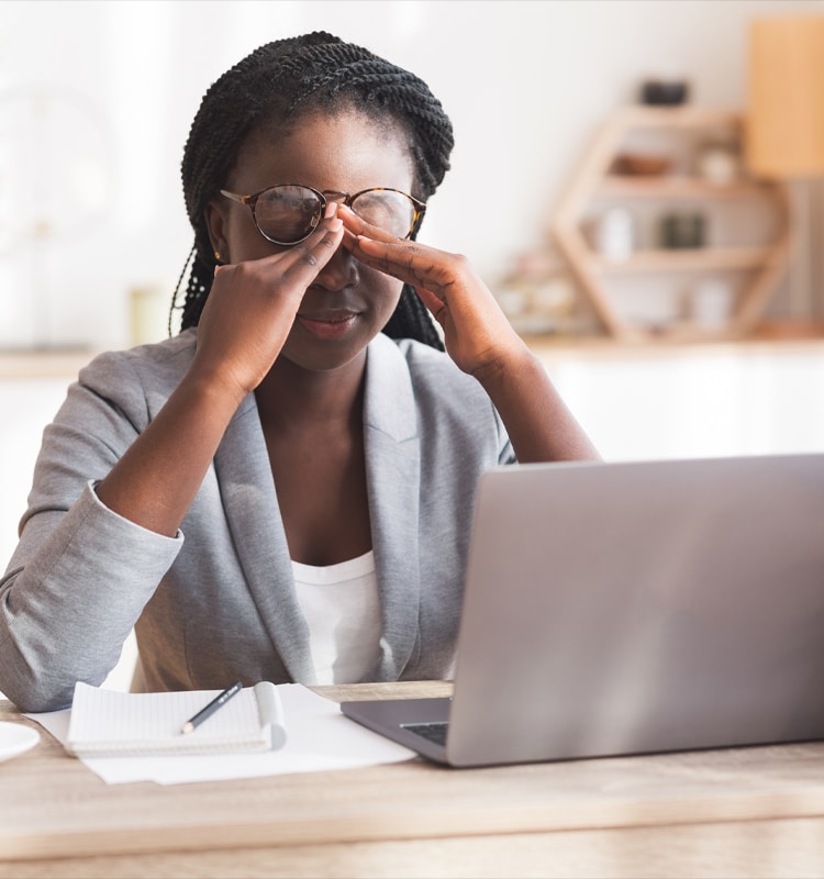
{"type": "Polygon", "coordinates": [[[824,15],[758,19],[749,27],[746,162],[751,174],[824,174],[824,15]]]}

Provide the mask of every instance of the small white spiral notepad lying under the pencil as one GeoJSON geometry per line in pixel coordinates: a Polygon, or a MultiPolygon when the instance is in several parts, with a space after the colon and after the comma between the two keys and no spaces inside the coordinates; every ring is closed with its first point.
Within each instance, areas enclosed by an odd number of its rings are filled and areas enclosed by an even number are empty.
{"type": "Polygon", "coordinates": [[[122,693],[75,685],[66,750],[77,757],[240,754],[286,744],[277,688],[244,687],[189,734],[183,724],[220,690],[122,693]]]}

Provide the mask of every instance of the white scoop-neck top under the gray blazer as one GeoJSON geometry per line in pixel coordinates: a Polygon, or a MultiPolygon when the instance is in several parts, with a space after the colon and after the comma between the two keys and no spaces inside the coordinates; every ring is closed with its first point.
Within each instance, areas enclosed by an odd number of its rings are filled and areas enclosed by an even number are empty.
{"type": "Polygon", "coordinates": [[[316,683],[357,683],[378,660],[380,599],[371,550],[337,565],[292,561],[316,683]]]}

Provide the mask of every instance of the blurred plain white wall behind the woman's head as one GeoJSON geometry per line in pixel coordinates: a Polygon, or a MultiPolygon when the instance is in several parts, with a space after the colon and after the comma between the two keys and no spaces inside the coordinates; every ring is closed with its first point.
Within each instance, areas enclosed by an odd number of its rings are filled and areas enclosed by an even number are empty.
{"type": "Polygon", "coordinates": [[[686,76],[693,102],[743,107],[747,22],[790,11],[824,0],[4,0],[0,346],[129,344],[129,291],[170,293],[190,247],[179,163],[200,98],[264,42],[329,30],[430,84],[457,146],[422,238],[494,283],[545,240],[580,151],[642,79],[686,76]],[[63,100],[21,110],[43,86],[63,100]],[[15,226],[48,193],[53,224],[81,230],[37,248],[15,226]]]}

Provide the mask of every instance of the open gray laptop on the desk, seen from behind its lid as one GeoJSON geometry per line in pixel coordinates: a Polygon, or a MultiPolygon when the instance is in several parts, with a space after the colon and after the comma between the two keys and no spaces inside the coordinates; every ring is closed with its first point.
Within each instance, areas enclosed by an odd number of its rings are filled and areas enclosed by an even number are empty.
{"type": "Polygon", "coordinates": [[[341,708],[453,767],[824,738],[824,455],[486,472],[453,697],[341,708]]]}

